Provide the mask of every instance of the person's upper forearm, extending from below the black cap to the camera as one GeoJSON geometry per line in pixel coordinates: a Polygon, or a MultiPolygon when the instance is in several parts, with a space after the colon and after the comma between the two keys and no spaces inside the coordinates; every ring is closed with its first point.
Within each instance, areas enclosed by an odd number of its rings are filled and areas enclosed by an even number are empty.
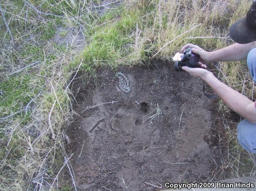
{"type": "Polygon", "coordinates": [[[248,44],[232,44],[228,47],[210,52],[210,62],[245,60],[248,52],[256,47],[256,42],[248,44]]]}

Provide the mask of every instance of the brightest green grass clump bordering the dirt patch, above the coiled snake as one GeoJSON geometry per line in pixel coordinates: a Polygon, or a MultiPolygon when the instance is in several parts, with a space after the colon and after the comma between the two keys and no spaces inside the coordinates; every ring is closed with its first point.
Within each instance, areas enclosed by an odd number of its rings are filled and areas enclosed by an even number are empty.
{"type": "MultiPolygon", "coordinates": [[[[108,14],[105,19],[112,20],[112,14],[108,14]]],[[[83,51],[83,60],[92,66],[117,67],[122,64],[122,58],[129,51],[127,44],[131,44],[134,39],[129,37],[136,28],[139,14],[131,11],[120,15],[119,21],[113,21],[106,26],[95,30],[91,36],[90,44],[83,51]]]]}

